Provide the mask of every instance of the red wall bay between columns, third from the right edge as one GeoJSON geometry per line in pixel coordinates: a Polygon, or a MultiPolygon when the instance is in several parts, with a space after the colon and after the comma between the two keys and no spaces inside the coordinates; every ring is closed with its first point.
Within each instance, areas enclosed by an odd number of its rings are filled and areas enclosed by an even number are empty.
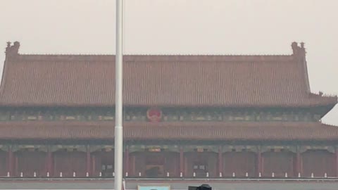
{"type": "Polygon", "coordinates": [[[256,176],[256,153],[253,152],[229,152],[223,154],[223,176],[236,177],[256,176]]]}

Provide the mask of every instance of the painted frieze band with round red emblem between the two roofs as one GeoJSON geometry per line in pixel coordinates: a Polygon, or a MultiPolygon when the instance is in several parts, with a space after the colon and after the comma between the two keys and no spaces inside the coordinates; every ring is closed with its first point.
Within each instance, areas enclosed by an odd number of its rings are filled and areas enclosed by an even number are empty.
{"type": "MultiPolygon", "coordinates": [[[[96,110],[0,110],[1,121],[113,121],[115,113],[108,108],[96,110]]],[[[253,122],[318,121],[320,115],[281,111],[232,111],[211,109],[126,108],[125,121],[133,122],[253,122]]]]}

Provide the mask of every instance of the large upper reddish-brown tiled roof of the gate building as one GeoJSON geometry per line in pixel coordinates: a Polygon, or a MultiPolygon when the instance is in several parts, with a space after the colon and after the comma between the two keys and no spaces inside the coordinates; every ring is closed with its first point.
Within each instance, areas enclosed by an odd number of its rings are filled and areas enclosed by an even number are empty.
{"type": "MultiPolygon", "coordinates": [[[[2,106],[113,106],[115,57],[8,56],[2,106]]],[[[299,56],[125,56],[125,106],[318,106],[299,56]]]]}

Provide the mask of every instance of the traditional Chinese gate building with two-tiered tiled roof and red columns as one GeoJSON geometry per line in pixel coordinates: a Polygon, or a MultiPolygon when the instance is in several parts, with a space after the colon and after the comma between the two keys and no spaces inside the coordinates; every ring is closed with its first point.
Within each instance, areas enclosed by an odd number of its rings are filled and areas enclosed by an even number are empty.
{"type": "MultiPolygon", "coordinates": [[[[112,177],[114,56],[24,55],[8,43],[0,175],[112,177]]],[[[125,56],[127,177],[337,177],[337,96],[286,56],[125,56]]]]}

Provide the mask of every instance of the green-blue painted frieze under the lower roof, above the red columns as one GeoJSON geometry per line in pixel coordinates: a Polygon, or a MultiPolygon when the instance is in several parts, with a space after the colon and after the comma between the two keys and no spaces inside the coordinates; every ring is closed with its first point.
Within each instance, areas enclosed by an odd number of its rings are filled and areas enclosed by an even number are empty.
{"type": "MultiPolygon", "coordinates": [[[[256,145],[126,145],[124,146],[124,150],[128,150],[129,153],[132,152],[196,152],[196,153],[218,153],[221,151],[222,153],[228,152],[254,152],[258,151],[261,153],[265,152],[283,152],[289,151],[292,153],[304,153],[308,150],[326,150],[330,153],[334,153],[337,149],[337,146],[296,146],[296,145],[269,145],[269,146],[256,146],[256,145]]],[[[97,152],[97,151],[114,151],[113,145],[30,145],[30,144],[4,144],[0,145],[0,151],[9,151],[11,149],[12,152],[18,151],[41,151],[41,152],[56,152],[56,151],[80,151],[80,152],[97,152]]]]}

